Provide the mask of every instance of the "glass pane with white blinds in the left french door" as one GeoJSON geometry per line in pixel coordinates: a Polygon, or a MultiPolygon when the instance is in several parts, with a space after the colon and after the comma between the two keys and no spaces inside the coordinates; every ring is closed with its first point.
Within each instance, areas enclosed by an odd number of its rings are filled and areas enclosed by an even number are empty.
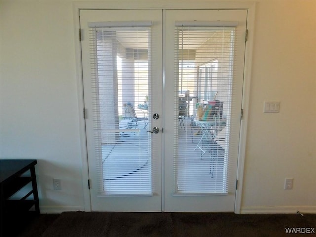
{"type": "Polygon", "coordinates": [[[99,195],[151,195],[149,27],[92,28],[99,195]]]}

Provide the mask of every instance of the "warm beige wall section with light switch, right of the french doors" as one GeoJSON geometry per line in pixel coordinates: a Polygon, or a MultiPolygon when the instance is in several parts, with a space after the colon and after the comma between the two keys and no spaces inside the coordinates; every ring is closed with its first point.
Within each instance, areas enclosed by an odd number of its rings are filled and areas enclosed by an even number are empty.
{"type": "Polygon", "coordinates": [[[242,207],[315,211],[316,1],[258,2],[253,40],[242,207]]]}

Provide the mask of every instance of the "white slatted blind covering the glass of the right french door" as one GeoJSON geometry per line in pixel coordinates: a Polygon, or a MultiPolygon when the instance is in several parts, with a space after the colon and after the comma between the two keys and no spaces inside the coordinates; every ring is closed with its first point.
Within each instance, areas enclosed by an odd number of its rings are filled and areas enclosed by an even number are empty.
{"type": "Polygon", "coordinates": [[[175,26],[174,194],[228,193],[237,23],[175,26]]]}

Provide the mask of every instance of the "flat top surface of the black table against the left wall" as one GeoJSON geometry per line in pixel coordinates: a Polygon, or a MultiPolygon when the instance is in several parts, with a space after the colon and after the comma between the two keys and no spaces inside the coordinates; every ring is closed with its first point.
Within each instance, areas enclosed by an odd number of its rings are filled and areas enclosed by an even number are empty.
{"type": "Polygon", "coordinates": [[[36,159],[0,159],[1,183],[12,176],[23,174],[36,163],[36,159]]]}

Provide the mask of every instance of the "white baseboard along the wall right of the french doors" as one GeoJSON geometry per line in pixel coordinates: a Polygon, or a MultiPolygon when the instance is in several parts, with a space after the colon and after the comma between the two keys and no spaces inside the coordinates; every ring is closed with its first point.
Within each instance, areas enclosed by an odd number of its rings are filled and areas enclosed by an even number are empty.
{"type": "Polygon", "coordinates": [[[241,207],[241,214],[295,214],[313,213],[316,214],[316,206],[244,206],[241,207]]]}

